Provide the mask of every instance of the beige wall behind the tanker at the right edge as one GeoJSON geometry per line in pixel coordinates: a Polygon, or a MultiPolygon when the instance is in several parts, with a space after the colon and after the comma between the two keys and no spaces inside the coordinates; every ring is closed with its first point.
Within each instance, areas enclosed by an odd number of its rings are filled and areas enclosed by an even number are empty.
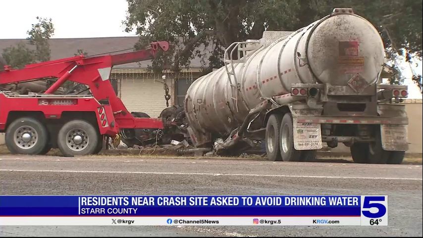
{"type": "MultiPolygon", "coordinates": [[[[422,138],[422,99],[407,99],[405,101],[405,110],[408,115],[408,143],[409,149],[407,153],[422,154],[423,138],[422,138]]],[[[338,147],[331,149],[333,152],[348,152],[350,148],[339,143],[338,147]]]]}

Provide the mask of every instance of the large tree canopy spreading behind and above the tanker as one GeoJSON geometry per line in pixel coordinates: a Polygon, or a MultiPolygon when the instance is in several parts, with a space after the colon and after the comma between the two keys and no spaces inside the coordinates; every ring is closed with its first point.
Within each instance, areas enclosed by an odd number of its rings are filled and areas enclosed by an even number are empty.
{"type": "MultiPolygon", "coordinates": [[[[222,48],[260,39],[263,31],[294,31],[352,7],[379,31],[391,59],[422,60],[422,0],[127,0],[126,30],[141,36],[136,47],[167,40],[174,46],[152,69],[179,70],[194,57],[210,56],[207,71],[222,65],[222,48]],[[201,47],[200,47],[201,46],[201,47]],[[211,49],[204,52],[203,49],[211,49]],[[195,50],[195,49],[199,50],[195,50]],[[403,51],[405,49],[405,51],[403,51]],[[210,54],[211,53],[211,54],[210,54]]],[[[401,81],[401,75],[397,75],[401,81]]],[[[415,77],[416,79],[419,77],[415,77]]]]}

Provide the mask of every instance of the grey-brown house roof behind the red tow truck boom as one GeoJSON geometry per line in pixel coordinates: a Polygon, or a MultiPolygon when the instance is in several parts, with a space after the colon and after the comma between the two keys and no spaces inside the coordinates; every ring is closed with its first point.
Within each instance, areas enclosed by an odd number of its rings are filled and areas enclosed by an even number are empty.
{"type": "MultiPolygon", "coordinates": [[[[78,50],[87,52],[89,56],[102,54],[106,52],[121,51],[133,48],[138,41],[138,37],[100,37],[100,38],[63,38],[63,39],[50,39],[51,60],[58,60],[67,57],[73,57],[78,50]]],[[[15,46],[19,42],[28,43],[25,39],[0,39],[0,55],[3,49],[15,46]]],[[[28,48],[34,46],[28,44],[28,48]]],[[[119,53],[131,52],[133,50],[121,51],[119,53]]],[[[118,54],[118,53],[114,53],[118,54]]],[[[116,65],[114,68],[147,68],[151,65],[151,60],[141,62],[126,63],[116,65]]],[[[196,57],[191,60],[190,67],[202,67],[204,62],[196,57]]]]}

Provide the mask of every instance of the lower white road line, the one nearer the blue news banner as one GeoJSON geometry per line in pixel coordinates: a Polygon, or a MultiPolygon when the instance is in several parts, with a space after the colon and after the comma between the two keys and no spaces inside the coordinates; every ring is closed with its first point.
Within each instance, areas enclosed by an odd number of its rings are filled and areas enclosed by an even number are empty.
{"type": "Polygon", "coordinates": [[[83,171],[83,170],[0,170],[0,172],[52,172],[52,173],[87,173],[87,174],[142,174],[142,175],[196,175],[196,176],[248,176],[248,177],[281,177],[281,178],[313,178],[313,179],[383,179],[383,180],[416,180],[421,178],[385,178],[385,177],[349,177],[349,176],[306,176],[306,175],[256,175],[256,174],[212,174],[212,173],[180,173],[180,172],[139,172],[139,171],[83,171]]]}

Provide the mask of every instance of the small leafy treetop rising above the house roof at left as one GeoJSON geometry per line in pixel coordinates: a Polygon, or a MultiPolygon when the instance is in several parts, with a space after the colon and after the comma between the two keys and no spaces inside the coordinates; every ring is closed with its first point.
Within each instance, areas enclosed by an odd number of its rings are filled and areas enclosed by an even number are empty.
{"type": "Polygon", "coordinates": [[[37,16],[38,23],[32,24],[31,30],[27,31],[29,43],[35,45],[36,57],[39,61],[50,60],[49,39],[54,34],[52,18],[42,18],[37,16]]]}

